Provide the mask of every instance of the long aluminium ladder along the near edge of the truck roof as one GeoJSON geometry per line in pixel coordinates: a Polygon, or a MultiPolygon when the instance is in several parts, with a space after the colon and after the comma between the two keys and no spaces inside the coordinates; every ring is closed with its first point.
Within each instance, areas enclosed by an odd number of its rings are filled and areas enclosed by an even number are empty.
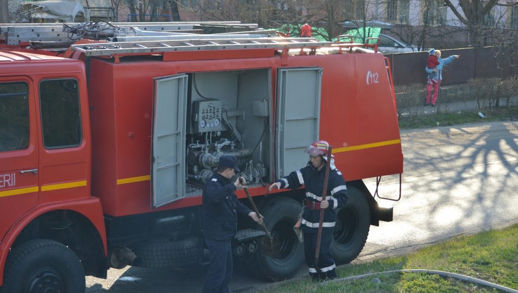
{"type": "MultiPolygon", "coordinates": [[[[202,35],[200,35],[202,36],[202,35]]],[[[103,42],[88,45],[72,45],[75,51],[85,56],[110,56],[115,54],[162,53],[176,51],[202,50],[236,50],[236,49],[289,49],[316,48],[328,46],[330,42],[318,41],[315,38],[219,38],[218,35],[208,35],[212,38],[189,38],[183,40],[135,41],[135,42],[103,42]]]]}

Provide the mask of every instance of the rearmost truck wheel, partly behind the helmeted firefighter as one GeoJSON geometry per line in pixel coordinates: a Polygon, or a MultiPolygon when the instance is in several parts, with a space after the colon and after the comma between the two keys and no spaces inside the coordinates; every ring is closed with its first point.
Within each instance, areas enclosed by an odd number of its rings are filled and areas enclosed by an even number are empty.
{"type": "Polygon", "coordinates": [[[363,250],[370,228],[367,199],[354,186],[347,187],[346,206],[338,210],[331,253],[337,265],[349,263],[363,250]]]}

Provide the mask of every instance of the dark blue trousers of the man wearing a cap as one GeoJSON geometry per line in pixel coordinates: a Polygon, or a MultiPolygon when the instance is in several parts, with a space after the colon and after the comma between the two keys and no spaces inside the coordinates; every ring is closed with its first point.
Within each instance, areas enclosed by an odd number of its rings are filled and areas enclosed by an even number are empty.
{"type": "Polygon", "coordinates": [[[228,293],[233,265],[231,240],[205,238],[205,243],[209,248],[210,264],[202,293],[228,293]]]}

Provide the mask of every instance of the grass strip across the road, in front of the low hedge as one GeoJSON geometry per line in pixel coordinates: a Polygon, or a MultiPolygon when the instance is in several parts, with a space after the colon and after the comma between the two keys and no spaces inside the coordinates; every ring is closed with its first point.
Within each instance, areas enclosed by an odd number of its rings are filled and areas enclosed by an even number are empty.
{"type": "Polygon", "coordinates": [[[482,111],[486,118],[480,118],[478,111],[463,111],[461,113],[437,113],[429,115],[412,115],[399,118],[400,129],[428,128],[439,126],[451,126],[467,123],[492,122],[492,121],[517,121],[518,107],[497,107],[482,111]]]}

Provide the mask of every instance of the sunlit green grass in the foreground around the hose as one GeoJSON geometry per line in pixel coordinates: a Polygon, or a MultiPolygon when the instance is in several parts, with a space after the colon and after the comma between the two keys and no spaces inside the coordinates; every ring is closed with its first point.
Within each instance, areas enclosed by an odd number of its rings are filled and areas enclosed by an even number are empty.
{"type": "MultiPolygon", "coordinates": [[[[338,277],[402,269],[467,275],[518,290],[518,225],[431,245],[400,257],[338,268],[338,277]]],[[[496,292],[490,287],[425,273],[376,274],[356,281],[312,283],[309,276],[261,292],[496,292]],[[376,281],[378,278],[381,282],[376,281]]]]}

